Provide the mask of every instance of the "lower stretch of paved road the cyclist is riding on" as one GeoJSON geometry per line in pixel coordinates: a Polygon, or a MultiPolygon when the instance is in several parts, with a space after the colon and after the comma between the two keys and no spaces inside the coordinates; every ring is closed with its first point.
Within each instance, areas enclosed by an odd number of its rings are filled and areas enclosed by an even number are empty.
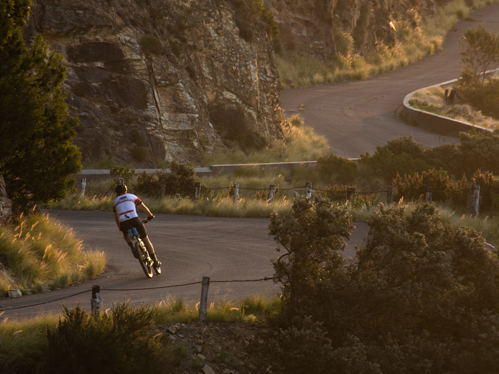
{"type": "MultiPolygon", "coordinates": [[[[111,302],[131,298],[132,303],[161,302],[169,298],[183,298],[192,303],[201,299],[201,285],[171,287],[200,282],[203,276],[211,281],[252,280],[273,276],[271,258],[277,258],[276,243],[268,235],[268,219],[216,218],[188,215],[157,214],[146,225],[158,257],[163,262],[162,274],[147,279],[137,260],[116,228],[112,212],[51,210],[50,216],[73,227],[85,248],[104,251],[109,269],[82,284],[62,290],[26,295],[15,299],[1,299],[1,318],[31,317],[39,313],[59,313],[59,303],[70,308],[81,299],[82,306],[90,310],[92,285],[99,285],[103,308],[111,302]],[[156,289],[132,291],[130,289],[156,289]],[[110,289],[119,291],[109,291],[110,289]],[[86,291],[86,292],[85,292],[86,291]],[[82,292],[82,293],[81,293],[82,292]],[[81,294],[79,294],[81,293],[81,294]],[[78,295],[75,295],[78,294],[78,295]],[[60,301],[28,308],[24,305],[46,303],[61,297],[60,301]]],[[[357,224],[345,255],[353,256],[355,245],[363,243],[367,225],[357,224]]],[[[250,295],[275,296],[279,286],[271,280],[259,282],[211,283],[208,302],[240,300],[250,295]]]]}

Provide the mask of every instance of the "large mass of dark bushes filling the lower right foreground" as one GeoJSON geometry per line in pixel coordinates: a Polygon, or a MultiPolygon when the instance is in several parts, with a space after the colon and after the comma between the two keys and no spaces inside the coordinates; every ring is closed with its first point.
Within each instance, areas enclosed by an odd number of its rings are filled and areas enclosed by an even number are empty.
{"type": "MultiPolygon", "coordinates": [[[[323,219],[336,212],[298,199],[290,215],[271,219],[286,251],[273,262],[282,319],[295,327],[282,344],[338,373],[496,373],[499,264],[480,234],[445,227],[430,204],[412,212],[381,206],[356,266],[344,267],[337,249],[348,219],[323,219]],[[311,337],[323,356],[301,347],[311,337]]],[[[301,373],[292,354],[288,360],[301,373]]]]}

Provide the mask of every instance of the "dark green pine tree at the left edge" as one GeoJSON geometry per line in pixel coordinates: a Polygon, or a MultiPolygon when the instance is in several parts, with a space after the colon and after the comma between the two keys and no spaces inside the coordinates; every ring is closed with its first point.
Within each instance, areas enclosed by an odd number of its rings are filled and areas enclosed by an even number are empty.
{"type": "Polygon", "coordinates": [[[79,120],[69,117],[62,57],[37,35],[22,37],[30,0],[0,2],[0,172],[17,207],[63,197],[81,170],[73,144],[79,120]]]}

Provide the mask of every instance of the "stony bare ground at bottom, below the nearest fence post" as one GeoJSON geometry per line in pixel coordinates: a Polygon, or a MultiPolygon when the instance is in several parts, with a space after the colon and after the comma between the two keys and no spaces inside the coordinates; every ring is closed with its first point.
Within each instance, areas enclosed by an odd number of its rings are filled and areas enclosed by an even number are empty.
{"type": "Polygon", "coordinates": [[[277,329],[248,323],[172,323],[161,327],[173,347],[187,352],[176,374],[276,373],[277,329]]]}

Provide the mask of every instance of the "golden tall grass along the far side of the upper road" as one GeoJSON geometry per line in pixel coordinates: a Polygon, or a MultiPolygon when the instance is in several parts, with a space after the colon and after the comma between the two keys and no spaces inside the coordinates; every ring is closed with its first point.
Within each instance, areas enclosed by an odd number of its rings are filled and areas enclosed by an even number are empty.
{"type": "MultiPolygon", "coordinates": [[[[497,0],[454,0],[426,19],[421,27],[413,27],[402,17],[393,21],[396,27],[395,45],[378,43],[371,51],[359,54],[350,48],[339,53],[334,61],[321,61],[313,56],[284,51],[276,56],[282,88],[303,87],[342,80],[364,79],[373,74],[406,66],[437,51],[449,28],[465,18],[472,9],[497,0]]],[[[348,35],[346,35],[348,36],[348,35]]],[[[347,43],[348,44],[348,43],[347,43]]],[[[350,47],[353,43],[349,43],[350,47]]]]}

